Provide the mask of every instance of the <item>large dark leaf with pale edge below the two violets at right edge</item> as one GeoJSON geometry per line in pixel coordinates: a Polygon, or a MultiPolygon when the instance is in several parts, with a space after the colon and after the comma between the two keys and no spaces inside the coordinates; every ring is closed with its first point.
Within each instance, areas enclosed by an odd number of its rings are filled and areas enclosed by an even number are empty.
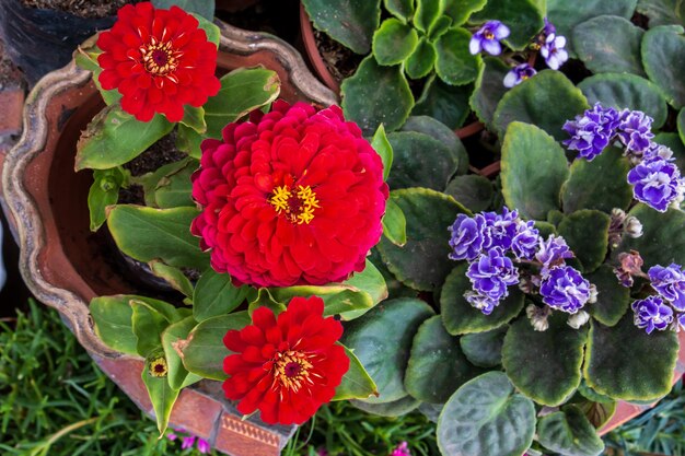
{"type": "Polygon", "coordinates": [[[671,390],[678,341],[673,331],[651,335],[632,323],[632,313],[616,326],[592,321],[583,377],[602,395],[652,401],[671,390]]]}

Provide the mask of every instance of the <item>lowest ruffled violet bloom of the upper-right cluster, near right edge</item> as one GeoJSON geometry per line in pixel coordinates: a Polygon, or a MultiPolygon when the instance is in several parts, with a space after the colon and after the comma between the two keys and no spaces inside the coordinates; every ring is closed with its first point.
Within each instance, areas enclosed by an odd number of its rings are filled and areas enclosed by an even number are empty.
{"type": "Polygon", "coordinates": [[[632,196],[638,201],[665,212],[669,204],[680,198],[683,182],[678,168],[665,160],[651,156],[642,160],[628,172],[628,184],[632,185],[632,196]]]}

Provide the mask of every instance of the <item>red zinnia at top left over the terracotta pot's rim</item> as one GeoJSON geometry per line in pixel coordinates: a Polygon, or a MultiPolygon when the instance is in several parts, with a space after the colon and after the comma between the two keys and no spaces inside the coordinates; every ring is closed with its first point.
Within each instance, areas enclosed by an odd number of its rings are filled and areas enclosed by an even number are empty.
{"type": "Polygon", "coordinates": [[[184,105],[201,106],[221,87],[214,77],[217,46],[198,24],[178,7],[125,5],[97,38],[102,87],[118,89],[121,108],[138,120],[162,113],[179,121],[184,105]]]}

